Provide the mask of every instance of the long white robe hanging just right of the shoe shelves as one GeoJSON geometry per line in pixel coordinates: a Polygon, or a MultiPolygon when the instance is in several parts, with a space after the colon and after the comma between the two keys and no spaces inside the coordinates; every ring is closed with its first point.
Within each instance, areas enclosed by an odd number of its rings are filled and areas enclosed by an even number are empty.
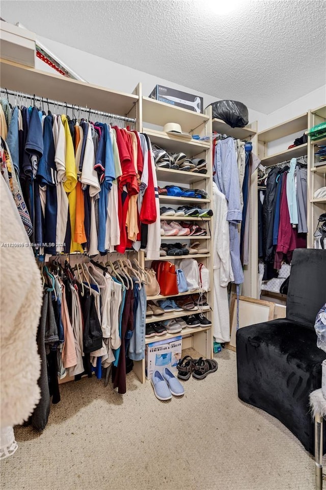
{"type": "Polygon", "coordinates": [[[234,280],[231,267],[228,203],[225,195],[213,182],[213,335],[216,342],[230,341],[228,289],[234,280]]]}

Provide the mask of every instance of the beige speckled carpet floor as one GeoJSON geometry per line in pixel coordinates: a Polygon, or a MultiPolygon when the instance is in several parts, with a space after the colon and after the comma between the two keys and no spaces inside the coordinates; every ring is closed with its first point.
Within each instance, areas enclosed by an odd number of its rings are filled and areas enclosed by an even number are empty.
{"type": "Polygon", "coordinates": [[[235,353],[160,402],[127,377],[126,395],[83,379],[61,387],[42,434],[16,428],[7,490],[313,490],[314,461],[276,419],[240,402],[235,353]]]}

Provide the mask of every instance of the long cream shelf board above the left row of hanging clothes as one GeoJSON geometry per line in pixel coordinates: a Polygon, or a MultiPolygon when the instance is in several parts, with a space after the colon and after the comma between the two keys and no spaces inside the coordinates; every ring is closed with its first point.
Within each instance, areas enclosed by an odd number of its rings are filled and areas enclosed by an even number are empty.
{"type": "Polygon", "coordinates": [[[127,94],[80,82],[61,75],[1,60],[1,84],[10,90],[48,97],[77,106],[88,106],[105,112],[125,115],[138,101],[138,95],[127,94]]]}

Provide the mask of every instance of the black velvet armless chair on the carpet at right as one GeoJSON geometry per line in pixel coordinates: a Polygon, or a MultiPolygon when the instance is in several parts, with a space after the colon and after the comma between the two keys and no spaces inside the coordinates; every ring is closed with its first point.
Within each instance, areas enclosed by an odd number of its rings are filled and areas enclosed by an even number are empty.
{"type": "MultiPolygon", "coordinates": [[[[309,394],[321,387],[315,317],[326,303],[326,251],[293,252],[286,318],[250,325],[236,333],[238,395],[282,422],[314,453],[309,394]]],[[[325,424],[324,428],[325,428],[325,424]]],[[[326,452],[323,434],[323,453],[326,452]]]]}

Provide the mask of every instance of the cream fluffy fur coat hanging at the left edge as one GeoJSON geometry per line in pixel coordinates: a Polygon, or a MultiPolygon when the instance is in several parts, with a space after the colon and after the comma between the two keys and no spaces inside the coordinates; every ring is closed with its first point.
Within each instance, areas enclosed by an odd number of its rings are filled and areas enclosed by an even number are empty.
{"type": "Polygon", "coordinates": [[[40,399],[36,334],[41,275],[11,191],[0,174],[0,389],[1,427],[27,420],[40,399]]]}

